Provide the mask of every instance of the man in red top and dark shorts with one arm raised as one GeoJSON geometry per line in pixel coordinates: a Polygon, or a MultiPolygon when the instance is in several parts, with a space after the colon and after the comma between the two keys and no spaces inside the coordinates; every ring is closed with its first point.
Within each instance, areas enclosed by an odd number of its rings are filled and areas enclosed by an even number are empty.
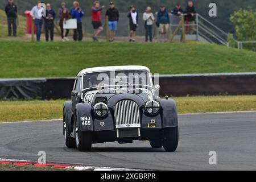
{"type": "Polygon", "coordinates": [[[92,7],[92,25],[94,29],[93,41],[98,41],[97,36],[103,31],[102,23],[101,23],[101,10],[104,9],[105,6],[100,6],[100,2],[95,1],[94,6],[92,7]]]}

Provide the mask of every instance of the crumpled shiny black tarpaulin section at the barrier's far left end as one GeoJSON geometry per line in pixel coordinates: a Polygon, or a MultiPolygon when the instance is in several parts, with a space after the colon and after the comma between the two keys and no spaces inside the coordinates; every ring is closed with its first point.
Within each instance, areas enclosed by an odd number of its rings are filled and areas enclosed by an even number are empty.
{"type": "Polygon", "coordinates": [[[0,79],[0,99],[43,99],[46,78],[0,79]]]}

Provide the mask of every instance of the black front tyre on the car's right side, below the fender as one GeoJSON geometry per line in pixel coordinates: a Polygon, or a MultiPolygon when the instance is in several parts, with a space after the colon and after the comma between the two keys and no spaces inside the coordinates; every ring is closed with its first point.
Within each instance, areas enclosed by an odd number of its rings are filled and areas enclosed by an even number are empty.
{"type": "Polygon", "coordinates": [[[179,143],[179,127],[172,127],[166,131],[163,147],[167,152],[174,152],[179,143]]]}

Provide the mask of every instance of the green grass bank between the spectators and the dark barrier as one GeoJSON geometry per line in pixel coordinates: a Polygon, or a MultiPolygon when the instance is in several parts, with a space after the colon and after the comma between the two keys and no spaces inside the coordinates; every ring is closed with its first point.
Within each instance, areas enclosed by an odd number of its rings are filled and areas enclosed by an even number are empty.
{"type": "Polygon", "coordinates": [[[152,73],[254,72],[256,52],[202,43],[0,42],[0,78],[76,76],[83,68],[145,65],[152,73]]]}

